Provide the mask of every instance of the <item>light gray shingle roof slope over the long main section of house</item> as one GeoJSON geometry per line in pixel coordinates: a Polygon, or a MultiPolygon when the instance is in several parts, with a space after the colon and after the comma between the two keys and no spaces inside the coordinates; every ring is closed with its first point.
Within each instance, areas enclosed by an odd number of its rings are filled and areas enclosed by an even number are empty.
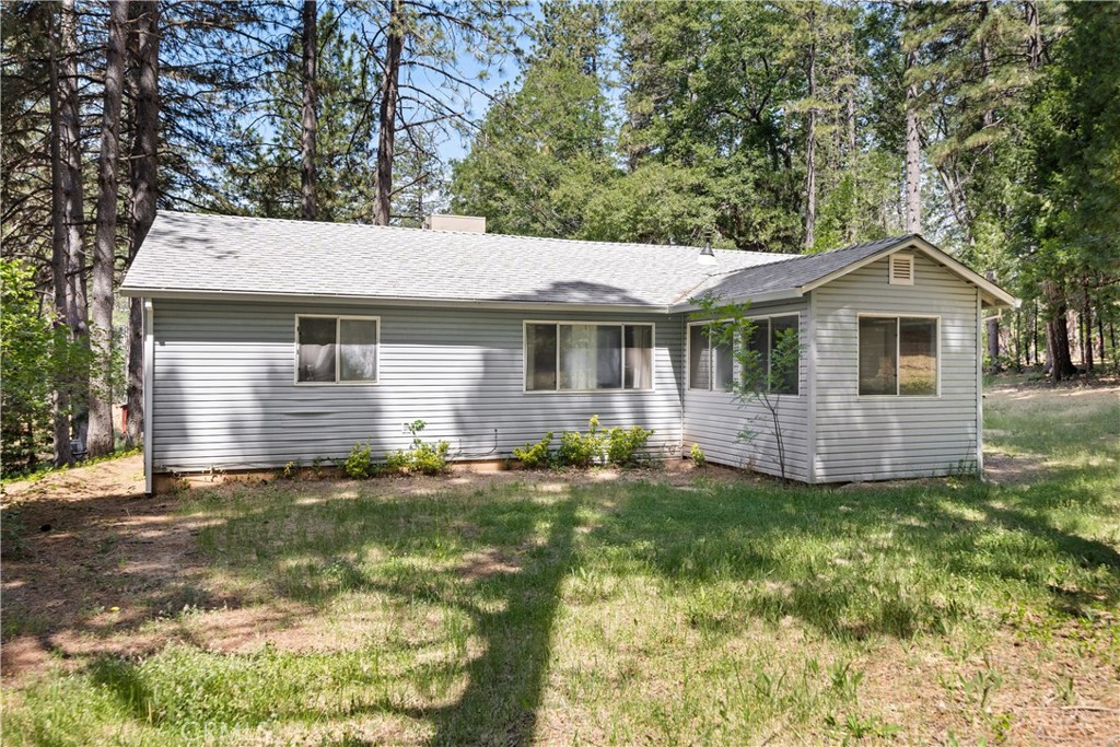
{"type": "Polygon", "coordinates": [[[159,291],[668,306],[783,254],[160,212],[124,278],[159,291]]]}

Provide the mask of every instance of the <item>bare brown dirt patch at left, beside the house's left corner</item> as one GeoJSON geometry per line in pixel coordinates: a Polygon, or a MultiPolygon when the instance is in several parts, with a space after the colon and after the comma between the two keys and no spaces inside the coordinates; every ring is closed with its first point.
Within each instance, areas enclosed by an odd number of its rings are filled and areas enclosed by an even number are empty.
{"type": "Polygon", "coordinates": [[[143,495],[140,457],[7,486],[4,681],[52,655],[157,651],[176,637],[160,620],[185,606],[237,606],[207,587],[195,539],[203,523],[175,502],[143,495]]]}

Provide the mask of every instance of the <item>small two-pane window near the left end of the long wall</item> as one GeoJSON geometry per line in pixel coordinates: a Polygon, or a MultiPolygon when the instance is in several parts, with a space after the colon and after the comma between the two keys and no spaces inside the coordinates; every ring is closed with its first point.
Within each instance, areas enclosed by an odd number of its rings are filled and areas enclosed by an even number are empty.
{"type": "Polygon", "coordinates": [[[296,317],[298,383],[372,384],[377,381],[376,317],[296,317]]]}

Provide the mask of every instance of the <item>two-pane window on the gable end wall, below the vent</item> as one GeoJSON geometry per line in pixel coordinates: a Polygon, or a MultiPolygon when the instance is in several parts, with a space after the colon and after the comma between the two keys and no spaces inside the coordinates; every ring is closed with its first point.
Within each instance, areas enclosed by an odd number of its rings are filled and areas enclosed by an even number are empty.
{"type": "Polygon", "coordinates": [[[936,396],[937,319],[859,318],[859,393],[936,396]]]}

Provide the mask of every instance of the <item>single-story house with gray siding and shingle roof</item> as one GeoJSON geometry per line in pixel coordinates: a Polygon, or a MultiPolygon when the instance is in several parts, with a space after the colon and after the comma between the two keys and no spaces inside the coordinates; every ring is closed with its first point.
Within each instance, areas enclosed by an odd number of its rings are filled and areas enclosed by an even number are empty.
{"type": "Polygon", "coordinates": [[[598,414],[663,455],[776,474],[765,412],[693,319],[703,293],[749,301],[758,345],[797,330],[775,393],[791,477],[976,469],[980,325],[1016,304],[917,235],[790,255],[170,212],[122,292],[144,299],[149,491],[399,449],[418,419],[457,460],[598,414]]]}

